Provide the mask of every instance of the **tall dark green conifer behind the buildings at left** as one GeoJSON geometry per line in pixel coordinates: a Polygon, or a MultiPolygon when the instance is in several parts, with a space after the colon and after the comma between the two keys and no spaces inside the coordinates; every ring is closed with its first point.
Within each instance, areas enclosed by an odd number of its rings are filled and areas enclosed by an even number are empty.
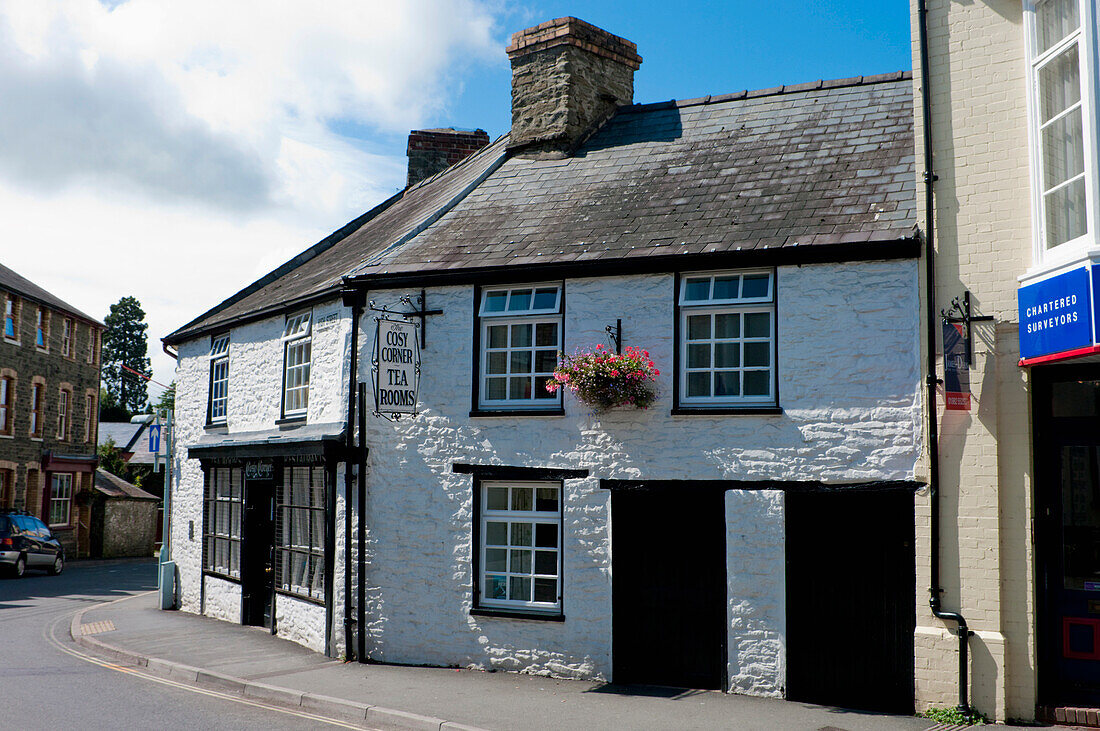
{"type": "Polygon", "coordinates": [[[148,390],[145,379],[133,370],[146,377],[153,375],[145,335],[148,330],[145,311],[135,297],[123,297],[111,306],[111,313],[103,318],[103,322],[107,324],[102,347],[103,388],[112,403],[130,414],[141,413],[148,401],[148,390]]]}

